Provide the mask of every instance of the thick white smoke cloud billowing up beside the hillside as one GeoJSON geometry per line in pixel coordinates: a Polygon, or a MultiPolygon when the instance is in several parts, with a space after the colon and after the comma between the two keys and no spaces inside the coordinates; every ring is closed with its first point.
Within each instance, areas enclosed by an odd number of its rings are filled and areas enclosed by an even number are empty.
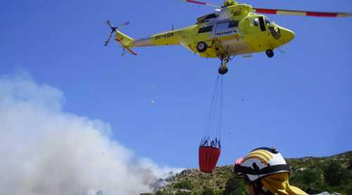
{"type": "Polygon", "coordinates": [[[136,159],[108,123],[64,113],[64,102],[24,72],[0,77],[1,195],[139,195],[182,170],[136,159]]]}

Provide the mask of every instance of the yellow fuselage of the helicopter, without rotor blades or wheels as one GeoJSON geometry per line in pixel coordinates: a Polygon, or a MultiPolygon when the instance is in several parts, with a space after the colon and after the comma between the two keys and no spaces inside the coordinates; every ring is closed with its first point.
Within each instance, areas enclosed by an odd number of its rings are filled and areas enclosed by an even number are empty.
{"type": "MultiPolygon", "coordinates": [[[[198,18],[195,25],[153,34],[139,39],[125,39],[128,47],[182,45],[201,57],[247,55],[274,50],[294,39],[294,32],[280,27],[265,15],[251,13],[248,4],[237,4],[198,18]],[[199,43],[202,43],[201,46],[199,43]],[[204,48],[205,47],[205,48],[204,48]]],[[[126,36],[121,32],[116,39],[126,36]]]]}

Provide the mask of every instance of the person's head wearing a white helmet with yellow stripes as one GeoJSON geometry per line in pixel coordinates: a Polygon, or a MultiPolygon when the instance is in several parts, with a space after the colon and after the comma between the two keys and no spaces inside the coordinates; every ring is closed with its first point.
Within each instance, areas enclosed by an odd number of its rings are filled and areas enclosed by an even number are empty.
{"type": "MultiPolygon", "coordinates": [[[[264,181],[264,178],[272,177],[272,175],[287,176],[290,173],[289,165],[275,148],[260,147],[253,149],[244,158],[237,159],[234,165],[235,178],[243,179],[246,183],[250,195],[267,195],[276,194],[271,189],[271,184],[264,181]],[[270,187],[269,187],[270,186],[270,187]],[[271,190],[268,190],[268,187],[271,190]]],[[[286,182],[286,177],[279,177],[286,182]]],[[[277,180],[277,178],[275,178],[277,180]]]]}

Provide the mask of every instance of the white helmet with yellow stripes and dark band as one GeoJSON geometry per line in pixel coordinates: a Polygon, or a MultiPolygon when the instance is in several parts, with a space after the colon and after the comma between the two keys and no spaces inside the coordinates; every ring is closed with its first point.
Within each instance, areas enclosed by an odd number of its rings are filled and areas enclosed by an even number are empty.
{"type": "Polygon", "coordinates": [[[234,164],[236,178],[247,177],[252,182],[275,173],[290,173],[289,165],[274,147],[253,149],[234,164]]]}

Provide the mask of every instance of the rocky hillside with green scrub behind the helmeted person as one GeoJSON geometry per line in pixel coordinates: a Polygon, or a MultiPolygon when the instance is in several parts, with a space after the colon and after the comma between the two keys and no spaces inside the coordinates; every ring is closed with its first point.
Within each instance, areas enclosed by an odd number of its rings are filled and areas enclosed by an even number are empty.
{"type": "MultiPolygon", "coordinates": [[[[352,194],[352,151],[327,157],[304,157],[286,159],[291,166],[290,184],[309,194],[352,194]]],[[[183,170],[160,182],[166,183],[156,191],[158,195],[248,195],[241,180],[234,180],[233,165],[218,166],[211,174],[201,173],[198,168],[183,170]]],[[[146,195],[146,194],[141,194],[146,195]]]]}

